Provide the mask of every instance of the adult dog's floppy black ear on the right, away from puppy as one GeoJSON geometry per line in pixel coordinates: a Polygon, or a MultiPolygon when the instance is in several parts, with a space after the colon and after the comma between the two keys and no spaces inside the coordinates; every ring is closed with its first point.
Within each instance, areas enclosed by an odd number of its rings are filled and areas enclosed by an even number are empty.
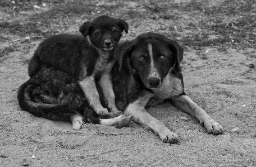
{"type": "Polygon", "coordinates": [[[179,72],[181,71],[180,62],[183,59],[183,48],[176,41],[168,39],[167,42],[169,48],[175,56],[175,70],[179,72]]]}

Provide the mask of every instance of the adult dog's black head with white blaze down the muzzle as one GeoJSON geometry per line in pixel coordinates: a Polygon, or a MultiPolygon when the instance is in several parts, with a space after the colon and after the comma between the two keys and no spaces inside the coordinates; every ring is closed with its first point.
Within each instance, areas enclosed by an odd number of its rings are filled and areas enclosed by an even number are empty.
{"type": "Polygon", "coordinates": [[[153,89],[161,87],[170,70],[172,73],[181,70],[183,49],[176,41],[148,32],[118,46],[116,57],[120,71],[132,69],[145,87],[153,89]]]}

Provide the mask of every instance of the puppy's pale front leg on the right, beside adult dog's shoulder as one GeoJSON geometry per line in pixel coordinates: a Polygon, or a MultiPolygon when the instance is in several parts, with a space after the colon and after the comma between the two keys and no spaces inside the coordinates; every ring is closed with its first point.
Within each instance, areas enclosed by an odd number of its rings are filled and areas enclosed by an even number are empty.
{"type": "Polygon", "coordinates": [[[111,83],[111,74],[102,74],[99,80],[99,85],[103,90],[104,101],[107,103],[107,107],[110,112],[115,114],[115,116],[120,116],[122,112],[116,108],[115,93],[113,92],[113,85],[111,83]]]}

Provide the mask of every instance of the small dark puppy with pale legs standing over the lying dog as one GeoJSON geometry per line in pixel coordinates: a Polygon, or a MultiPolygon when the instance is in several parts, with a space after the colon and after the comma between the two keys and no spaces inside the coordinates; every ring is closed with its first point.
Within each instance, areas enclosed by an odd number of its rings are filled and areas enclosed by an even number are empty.
{"type": "Polygon", "coordinates": [[[54,35],[44,40],[36,49],[29,63],[29,76],[41,68],[42,64],[50,64],[59,70],[79,77],[90,106],[99,116],[119,116],[122,112],[115,106],[110,71],[114,63],[115,46],[122,36],[128,32],[128,24],[124,20],[108,16],[99,16],[92,22],[85,22],[80,27],[84,37],[75,35],[54,35]],[[103,108],[95,87],[95,79],[102,89],[103,108]]]}

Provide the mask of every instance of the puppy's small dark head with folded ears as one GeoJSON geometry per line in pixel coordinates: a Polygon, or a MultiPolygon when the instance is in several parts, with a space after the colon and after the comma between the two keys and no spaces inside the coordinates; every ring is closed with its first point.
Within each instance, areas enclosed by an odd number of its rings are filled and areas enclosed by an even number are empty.
{"type": "Polygon", "coordinates": [[[99,16],[92,22],[85,22],[79,31],[97,48],[112,50],[119,42],[122,32],[128,33],[128,23],[121,19],[99,16]]]}

